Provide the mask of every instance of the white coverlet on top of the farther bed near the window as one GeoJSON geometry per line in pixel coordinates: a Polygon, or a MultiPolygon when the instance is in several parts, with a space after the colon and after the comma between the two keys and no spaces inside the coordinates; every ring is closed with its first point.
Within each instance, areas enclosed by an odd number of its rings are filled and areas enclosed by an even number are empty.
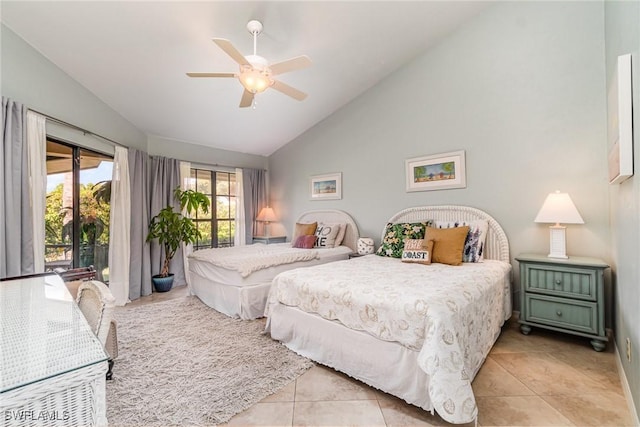
{"type": "Polygon", "coordinates": [[[272,245],[255,243],[247,246],[202,249],[190,254],[189,258],[207,261],[247,277],[254,271],[264,268],[316,259],[318,251],[292,248],[290,243],[272,245]]]}

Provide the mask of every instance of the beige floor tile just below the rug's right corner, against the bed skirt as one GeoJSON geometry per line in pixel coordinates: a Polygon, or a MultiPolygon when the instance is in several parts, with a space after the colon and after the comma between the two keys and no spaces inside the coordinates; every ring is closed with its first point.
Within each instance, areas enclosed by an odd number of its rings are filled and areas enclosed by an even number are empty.
{"type": "Polygon", "coordinates": [[[322,365],[312,367],[296,380],[296,402],[376,398],[372,387],[322,365]]]}

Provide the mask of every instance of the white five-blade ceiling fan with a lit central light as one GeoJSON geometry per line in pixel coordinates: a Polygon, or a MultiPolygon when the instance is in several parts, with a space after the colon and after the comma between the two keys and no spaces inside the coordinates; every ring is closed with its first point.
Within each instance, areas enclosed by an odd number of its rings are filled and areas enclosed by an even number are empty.
{"type": "Polygon", "coordinates": [[[240,99],[240,107],[250,107],[253,104],[254,96],[257,93],[264,92],[268,88],[273,88],[278,92],[302,101],[307,94],[291,87],[279,80],[275,80],[273,76],[287,73],[289,71],[300,70],[311,65],[308,56],[296,56],[286,61],[269,64],[269,62],[256,53],[258,35],[262,32],[262,23],[260,21],[249,21],[247,30],[253,35],[253,55],[242,55],[229,40],[213,39],[220,49],[224,50],[234,61],[240,65],[238,73],[187,73],[189,77],[236,77],[242,86],[244,92],[240,99]]]}

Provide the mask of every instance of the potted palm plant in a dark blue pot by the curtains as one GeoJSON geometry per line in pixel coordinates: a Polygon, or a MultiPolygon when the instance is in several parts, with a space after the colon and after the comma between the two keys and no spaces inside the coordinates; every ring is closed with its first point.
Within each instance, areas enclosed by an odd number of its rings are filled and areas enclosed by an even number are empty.
{"type": "Polygon", "coordinates": [[[176,187],[173,195],[180,202],[180,212],[173,206],[162,208],[160,212],[149,222],[149,234],[147,242],[158,239],[164,253],[164,261],[160,274],[152,277],[153,284],[158,292],[167,292],[173,286],[173,274],[169,273],[169,264],[176,254],[181,243],[195,243],[202,235],[196,224],[188,216],[182,215],[186,211],[188,215],[201,210],[209,212],[209,198],[194,190],[181,190],[176,187]]]}

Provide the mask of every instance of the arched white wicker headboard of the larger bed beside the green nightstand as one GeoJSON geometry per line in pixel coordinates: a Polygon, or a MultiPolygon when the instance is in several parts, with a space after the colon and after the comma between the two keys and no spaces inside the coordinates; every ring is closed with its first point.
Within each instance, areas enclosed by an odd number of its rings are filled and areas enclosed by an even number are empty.
{"type": "MultiPolygon", "coordinates": [[[[487,259],[497,259],[505,262],[509,260],[509,241],[504,230],[498,222],[488,213],[480,209],[469,206],[418,206],[407,208],[393,215],[387,222],[419,222],[426,220],[434,221],[473,221],[476,219],[486,219],[489,221],[487,240],[485,241],[484,257],[487,259]]],[[[384,238],[385,230],[382,230],[384,238]]]]}

